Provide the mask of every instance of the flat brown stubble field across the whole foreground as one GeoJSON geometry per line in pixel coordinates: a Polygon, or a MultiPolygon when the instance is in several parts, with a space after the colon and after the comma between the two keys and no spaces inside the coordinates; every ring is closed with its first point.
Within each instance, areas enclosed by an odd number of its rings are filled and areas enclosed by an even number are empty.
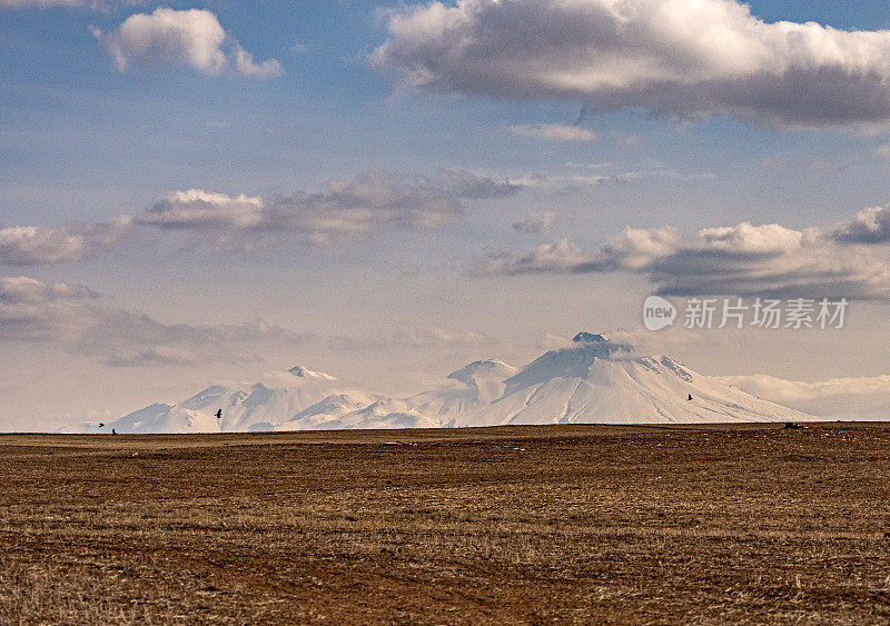
{"type": "Polygon", "coordinates": [[[890,622],[890,426],[0,437],[0,623],[890,622]]]}

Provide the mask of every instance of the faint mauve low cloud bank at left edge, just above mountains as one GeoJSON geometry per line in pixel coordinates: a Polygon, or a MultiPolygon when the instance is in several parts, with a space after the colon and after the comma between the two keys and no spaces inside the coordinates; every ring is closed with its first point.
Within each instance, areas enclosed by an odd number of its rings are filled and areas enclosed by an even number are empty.
{"type": "MultiPolygon", "coordinates": [[[[50,345],[108,367],[260,362],[269,347],[308,345],[367,349],[478,346],[490,338],[465,329],[400,327],[372,338],[294,332],[261,319],[231,325],[164,324],[109,302],[87,287],[0,276],[0,344],[50,345]]],[[[2,388],[0,388],[2,393],[2,388]]]]}

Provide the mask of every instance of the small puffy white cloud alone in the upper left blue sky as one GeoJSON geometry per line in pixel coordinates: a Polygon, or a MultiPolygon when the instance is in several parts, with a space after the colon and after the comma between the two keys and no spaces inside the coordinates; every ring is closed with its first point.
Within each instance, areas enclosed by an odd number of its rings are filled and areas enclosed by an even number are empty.
{"type": "Polygon", "coordinates": [[[226,33],[216,16],[205,9],[178,11],[160,7],[152,13],[127,18],[113,32],[93,29],[101,46],[123,71],[144,67],[181,66],[218,74],[234,64],[243,76],[269,78],[281,73],[275,59],[260,63],[226,33]],[[231,57],[231,60],[230,60],[231,57]]]}

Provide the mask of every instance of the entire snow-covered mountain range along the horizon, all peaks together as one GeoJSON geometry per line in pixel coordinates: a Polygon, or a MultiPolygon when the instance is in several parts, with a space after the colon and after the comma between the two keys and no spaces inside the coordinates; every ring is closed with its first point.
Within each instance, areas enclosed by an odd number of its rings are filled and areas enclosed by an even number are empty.
{"type": "MultiPolygon", "coordinates": [[[[812,416],[699,375],[668,356],[580,332],[518,369],[475,361],[435,387],[387,398],[295,367],[264,384],[212,386],[103,426],[117,433],[433,428],[507,424],[800,421],[812,416]],[[216,418],[221,410],[221,419],[216,418]]],[[[96,431],[96,427],[88,430],[96,431]]]]}

